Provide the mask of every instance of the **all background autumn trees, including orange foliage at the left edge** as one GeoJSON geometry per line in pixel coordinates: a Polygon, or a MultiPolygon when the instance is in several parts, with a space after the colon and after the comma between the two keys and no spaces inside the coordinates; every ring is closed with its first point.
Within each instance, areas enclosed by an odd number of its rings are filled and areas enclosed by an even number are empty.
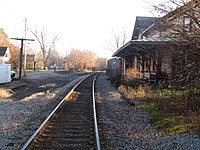
{"type": "MultiPolygon", "coordinates": [[[[30,29],[29,29],[30,30],[30,29]]],[[[40,51],[33,52],[31,48],[27,48],[28,58],[27,69],[49,69],[54,67],[61,67],[75,70],[105,70],[107,64],[107,58],[97,57],[93,51],[72,49],[69,55],[60,56],[56,50],[56,41],[59,40],[58,36],[55,36],[53,40],[48,40],[47,30],[43,28],[42,31],[32,31],[31,33],[37,39],[40,46],[40,51]]],[[[0,46],[9,47],[11,53],[11,59],[8,63],[12,64],[13,69],[19,67],[19,51],[20,45],[11,44],[8,36],[2,28],[0,28],[0,46]]]]}

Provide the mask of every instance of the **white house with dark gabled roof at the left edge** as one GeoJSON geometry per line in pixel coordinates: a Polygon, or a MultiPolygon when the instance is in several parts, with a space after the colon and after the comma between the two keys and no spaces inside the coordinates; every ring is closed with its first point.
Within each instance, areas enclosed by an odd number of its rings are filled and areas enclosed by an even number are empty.
{"type": "Polygon", "coordinates": [[[11,58],[10,50],[8,47],[0,47],[0,64],[5,64],[11,58]]]}

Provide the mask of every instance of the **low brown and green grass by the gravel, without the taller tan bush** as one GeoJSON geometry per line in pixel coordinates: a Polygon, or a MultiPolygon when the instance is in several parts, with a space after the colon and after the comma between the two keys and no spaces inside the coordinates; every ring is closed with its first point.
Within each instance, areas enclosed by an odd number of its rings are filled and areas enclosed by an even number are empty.
{"type": "Polygon", "coordinates": [[[140,100],[141,105],[136,107],[150,114],[151,124],[156,129],[170,134],[200,132],[200,113],[191,110],[195,103],[186,97],[186,91],[147,89],[119,88],[126,98],[140,100]]]}

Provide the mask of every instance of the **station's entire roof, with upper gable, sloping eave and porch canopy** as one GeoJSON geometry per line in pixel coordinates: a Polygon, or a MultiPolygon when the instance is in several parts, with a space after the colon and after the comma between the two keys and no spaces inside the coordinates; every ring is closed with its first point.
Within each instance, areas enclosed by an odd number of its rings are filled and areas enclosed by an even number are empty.
{"type": "Polygon", "coordinates": [[[139,39],[141,33],[146,34],[145,31],[152,28],[154,24],[159,24],[163,20],[169,21],[176,18],[179,15],[182,15],[186,10],[199,6],[199,0],[191,0],[185,5],[175,9],[174,11],[168,13],[167,15],[157,18],[157,17],[136,17],[135,26],[132,34],[132,40],[126,43],[124,46],[119,48],[112,56],[113,57],[127,57],[131,54],[135,54],[139,51],[155,50],[158,47],[165,48],[177,45],[188,45],[188,41],[183,39],[178,39],[175,37],[148,37],[139,39]]]}

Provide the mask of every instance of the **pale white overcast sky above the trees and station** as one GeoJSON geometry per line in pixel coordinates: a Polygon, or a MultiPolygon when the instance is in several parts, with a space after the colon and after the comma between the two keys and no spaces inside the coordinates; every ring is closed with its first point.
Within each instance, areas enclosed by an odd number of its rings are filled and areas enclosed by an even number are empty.
{"type": "MultiPolygon", "coordinates": [[[[112,30],[125,30],[130,40],[135,17],[153,16],[147,1],[151,0],[0,0],[0,28],[9,38],[22,38],[27,18],[28,28],[44,27],[49,40],[58,35],[55,45],[62,55],[77,48],[110,57],[106,48],[112,30]]],[[[30,31],[27,38],[34,38],[30,31]]],[[[29,47],[39,49],[36,41],[29,47]]]]}

